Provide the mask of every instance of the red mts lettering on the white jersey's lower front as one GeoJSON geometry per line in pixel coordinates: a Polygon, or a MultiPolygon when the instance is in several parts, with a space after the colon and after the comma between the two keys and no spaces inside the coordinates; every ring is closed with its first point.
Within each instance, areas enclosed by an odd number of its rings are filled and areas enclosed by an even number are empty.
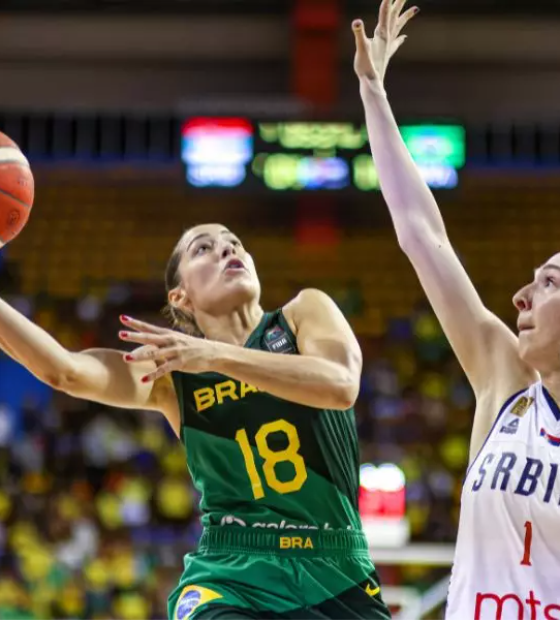
{"type": "Polygon", "coordinates": [[[548,604],[535,597],[528,598],[513,592],[498,596],[495,592],[477,592],[474,620],[560,620],[560,605],[548,604]],[[530,612],[526,614],[525,611],[530,612]]]}

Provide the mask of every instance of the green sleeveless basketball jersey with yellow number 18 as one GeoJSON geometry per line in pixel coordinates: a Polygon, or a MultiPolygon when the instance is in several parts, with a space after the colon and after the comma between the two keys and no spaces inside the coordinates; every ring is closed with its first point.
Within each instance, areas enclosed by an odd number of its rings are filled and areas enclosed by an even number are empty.
{"type": "MultiPolygon", "coordinates": [[[[281,310],[246,348],[297,355],[281,310]]],[[[173,373],[203,524],[361,530],[354,411],[314,409],[218,373],[173,373]]]]}

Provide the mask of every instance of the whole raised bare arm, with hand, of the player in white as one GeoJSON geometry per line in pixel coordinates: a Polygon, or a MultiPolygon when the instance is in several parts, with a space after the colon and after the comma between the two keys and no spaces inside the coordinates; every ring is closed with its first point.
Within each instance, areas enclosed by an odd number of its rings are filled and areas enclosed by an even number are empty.
{"type": "MultiPolygon", "coordinates": [[[[437,203],[414,164],[393,116],[383,86],[390,57],[404,38],[402,27],[417,12],[400,15],[404,1],[383,0],[373,41],[361,21],[353,24],[355,70],[360,80],[366,121],[381,189],[397,238],[475,391],[479,405],[475,435],[492,424],[497,400],[536,379],[518,356],[517,338],[482,303],[445,230],[437,203]],[[480,412],[480,415],[479,415],[480,412]]],[[[479,437],[474,437],[479,443],[479,437]]]]}

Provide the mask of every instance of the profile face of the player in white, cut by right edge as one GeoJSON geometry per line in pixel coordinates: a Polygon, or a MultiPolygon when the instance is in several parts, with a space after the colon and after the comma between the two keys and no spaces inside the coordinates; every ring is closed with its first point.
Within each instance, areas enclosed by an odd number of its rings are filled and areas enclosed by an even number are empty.
{"type": "Polygon", "coordinates": [[[535,272],[513,298],[519,310],[519,353],[541,372],[560,369],[560,254],[535,272]]]}

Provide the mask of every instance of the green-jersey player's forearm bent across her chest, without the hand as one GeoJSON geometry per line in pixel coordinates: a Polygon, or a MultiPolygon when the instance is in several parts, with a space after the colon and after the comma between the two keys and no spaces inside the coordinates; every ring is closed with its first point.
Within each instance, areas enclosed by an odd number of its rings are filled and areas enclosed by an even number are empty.
{"type": "Polygon", "coordinates": [[[220,344],[212,370],[278,398],[318,409],[348,409],[358,391],[343,366],[306,355],[278,355],[220,344]]]}

